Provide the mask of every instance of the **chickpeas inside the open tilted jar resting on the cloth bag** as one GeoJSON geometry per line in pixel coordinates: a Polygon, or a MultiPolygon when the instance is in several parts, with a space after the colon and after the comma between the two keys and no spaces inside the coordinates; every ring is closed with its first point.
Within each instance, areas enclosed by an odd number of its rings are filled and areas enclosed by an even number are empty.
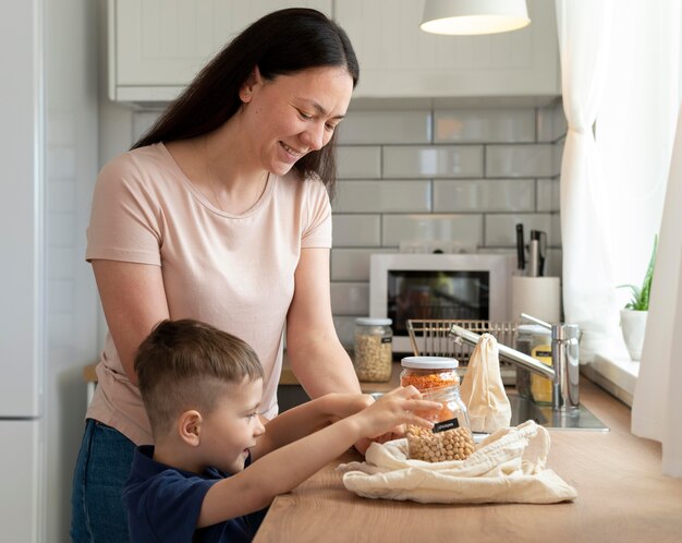
{"type": "Polygon", "coordinates": [[[460,426],[434,433],[419,426],[407,426],[409,452],[413,460],[444,462],[464,460],[475,450],[474,438],[467,427],[460,426]]]}

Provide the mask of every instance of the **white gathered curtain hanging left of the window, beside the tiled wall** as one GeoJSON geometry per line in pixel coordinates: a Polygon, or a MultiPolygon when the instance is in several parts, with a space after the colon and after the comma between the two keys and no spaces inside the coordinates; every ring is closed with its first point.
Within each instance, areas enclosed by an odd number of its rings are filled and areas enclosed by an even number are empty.
{"type": "Polygon", "coordinates": [[[620,335],[602,171],[593,125],[608,72],[611,0],[556,0],[563,109],[561,243],[565,321],[577,324],[581,362],[620,335]]]}

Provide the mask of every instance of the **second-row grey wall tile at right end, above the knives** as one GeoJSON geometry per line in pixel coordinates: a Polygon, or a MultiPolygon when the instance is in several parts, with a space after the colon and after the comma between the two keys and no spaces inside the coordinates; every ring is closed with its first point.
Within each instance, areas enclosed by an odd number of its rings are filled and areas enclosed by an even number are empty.
{"type": "Polygon", "coordinates": [[[555,171],[551,144],[486,146],[488,178],[549,178],[555,171]]]}

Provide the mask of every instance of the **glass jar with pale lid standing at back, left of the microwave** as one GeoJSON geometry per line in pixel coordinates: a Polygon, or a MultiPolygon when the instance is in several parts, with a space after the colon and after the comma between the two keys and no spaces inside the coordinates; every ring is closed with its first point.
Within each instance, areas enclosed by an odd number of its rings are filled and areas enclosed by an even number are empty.
{"type": "Polygon", "coordinates": [[[356,318],[353,363],[360,381],[391,381],[393,330],[390,318],[356,318]]]}

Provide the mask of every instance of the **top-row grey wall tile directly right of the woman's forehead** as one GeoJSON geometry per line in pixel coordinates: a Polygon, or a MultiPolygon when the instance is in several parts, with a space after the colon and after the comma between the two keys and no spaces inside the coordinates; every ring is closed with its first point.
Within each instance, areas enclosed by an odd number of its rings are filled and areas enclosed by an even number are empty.
{"type": "Polygon", "coordinates": [[[349,111],[337,130],[342,145],[429,143],[431,112],[349,111]]]}

